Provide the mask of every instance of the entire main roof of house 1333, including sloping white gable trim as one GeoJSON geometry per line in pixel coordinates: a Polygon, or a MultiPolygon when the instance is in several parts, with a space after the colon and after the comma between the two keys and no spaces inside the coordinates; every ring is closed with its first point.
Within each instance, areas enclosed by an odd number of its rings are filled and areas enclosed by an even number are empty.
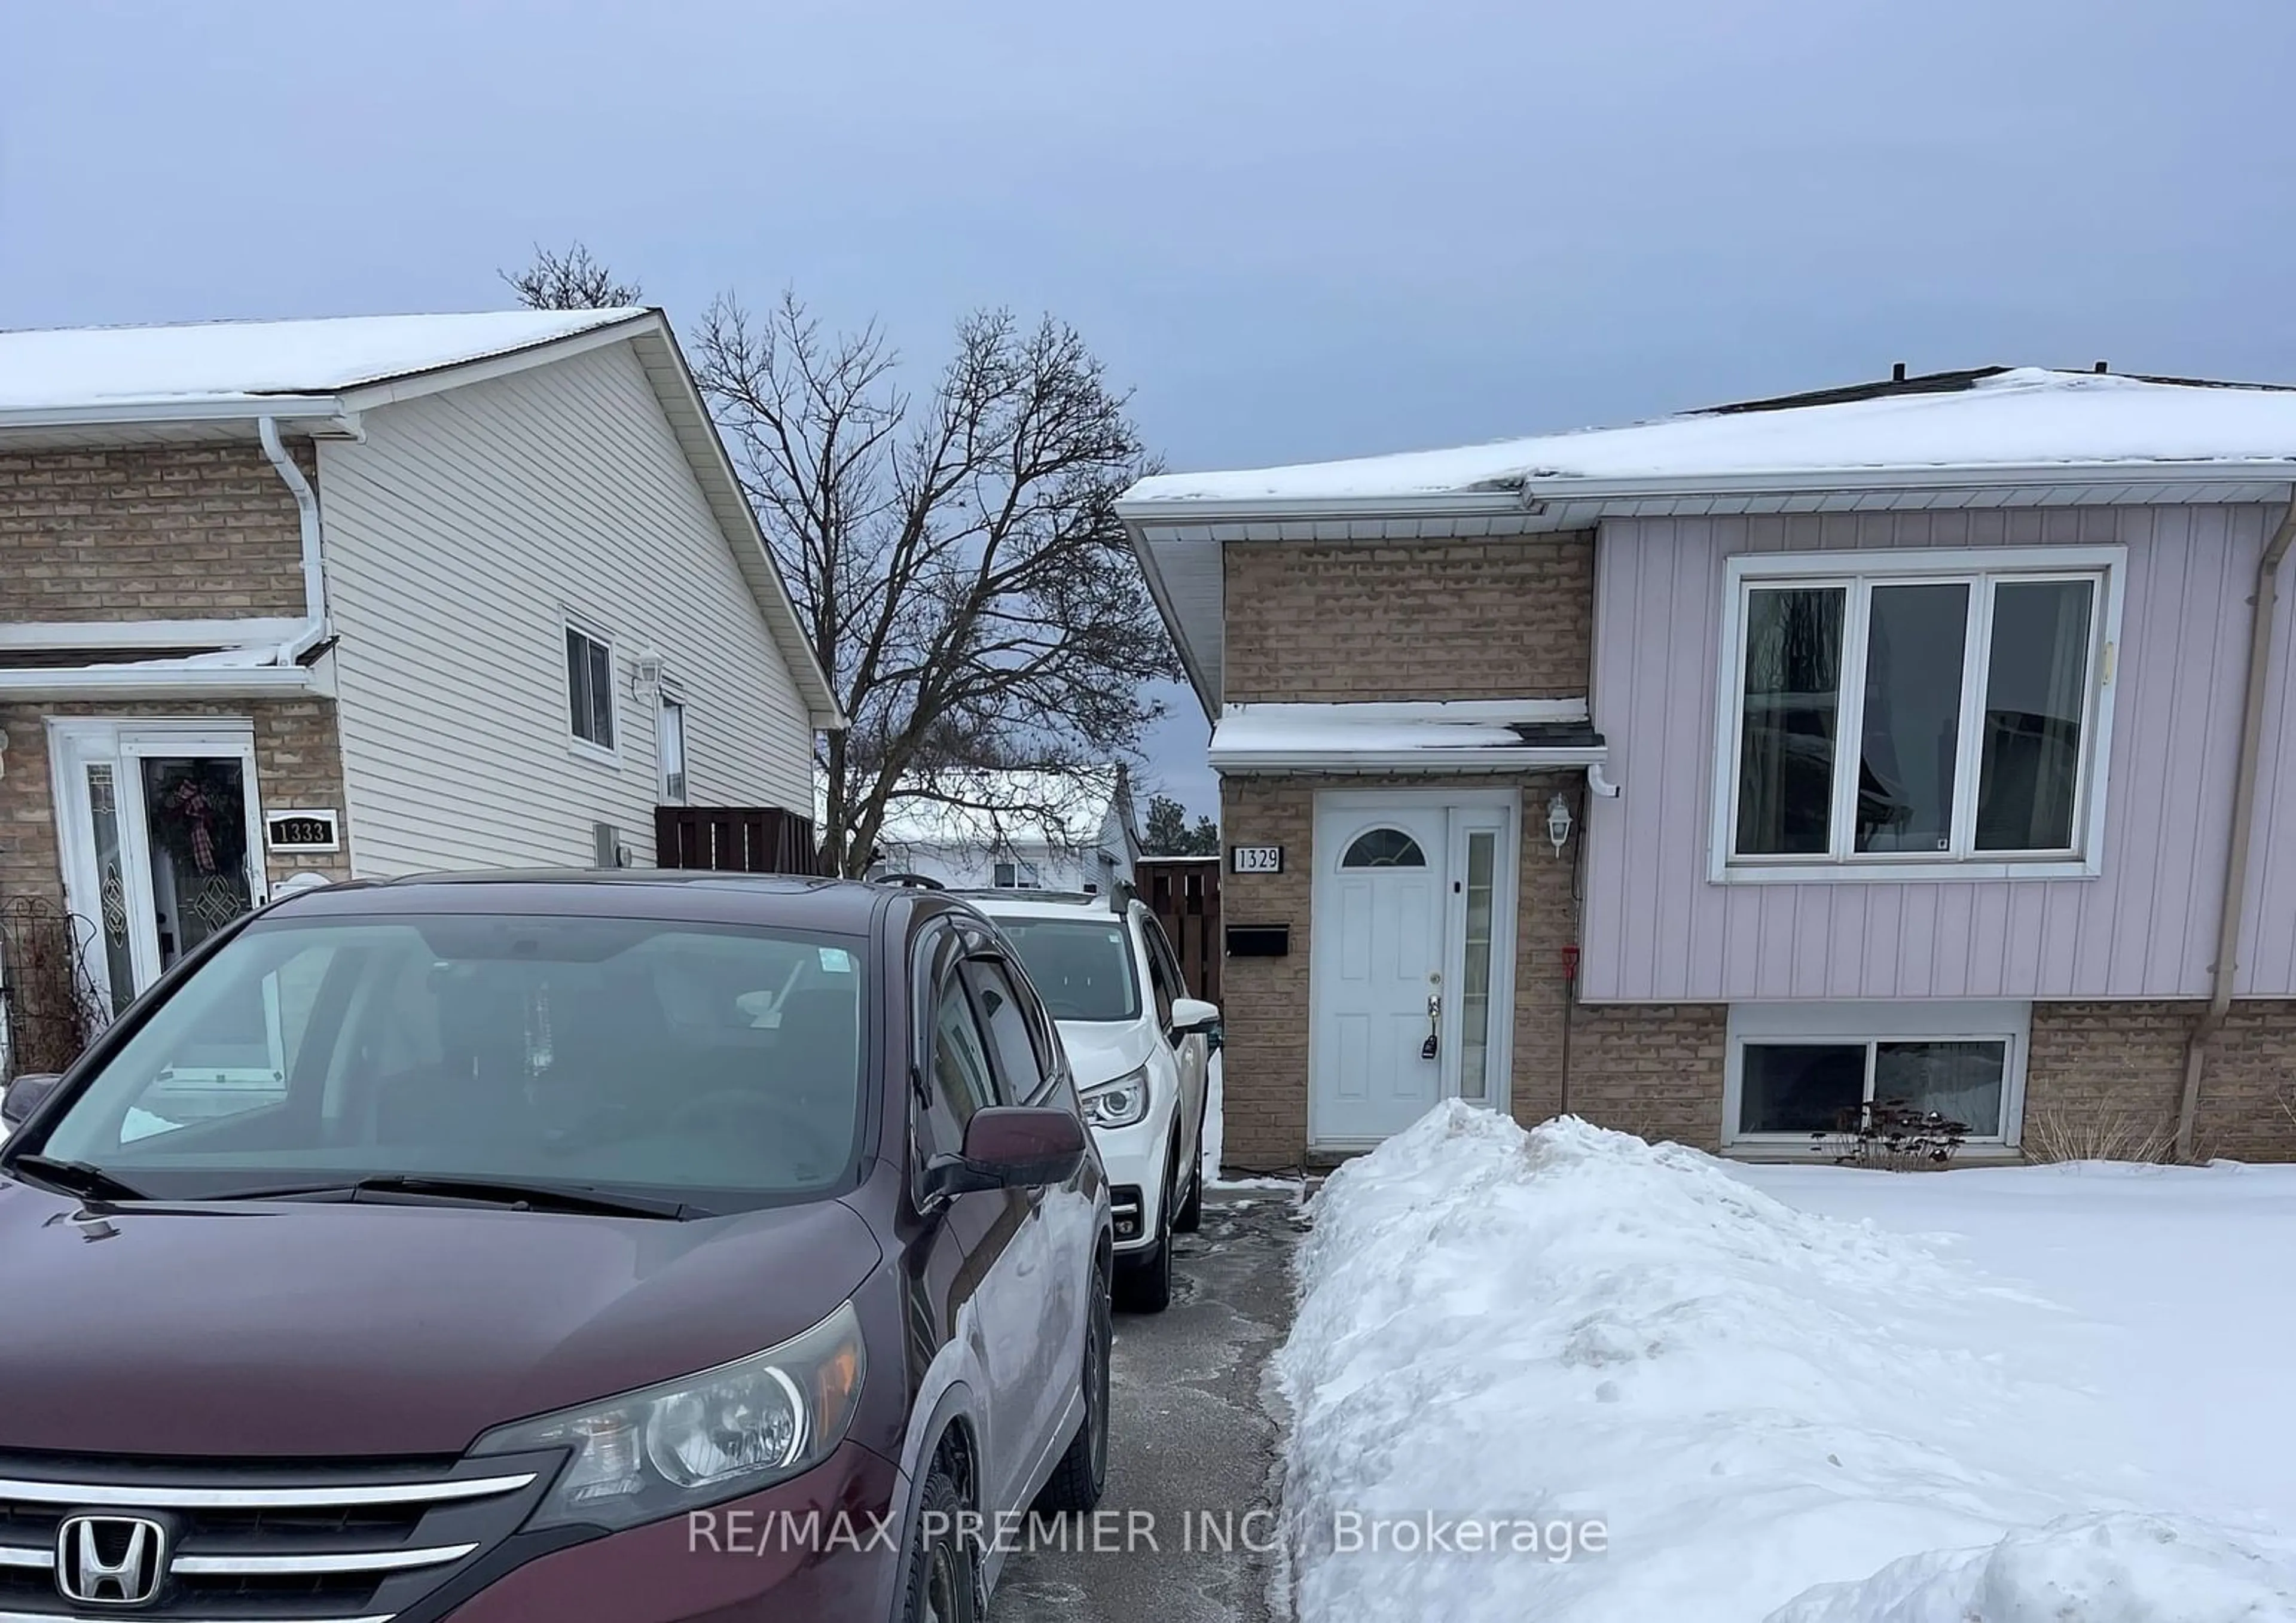
{"type": "MultiPolygon", "coordinates": [[[[360,411],[627,342],[815,728],[845,714],[668,317],[652,308],[200,321],[0,333],[0,448],[246,432],[356,432],[360,411]]],[[[321,491],[321,505],[326,494],[321,491]]]]}

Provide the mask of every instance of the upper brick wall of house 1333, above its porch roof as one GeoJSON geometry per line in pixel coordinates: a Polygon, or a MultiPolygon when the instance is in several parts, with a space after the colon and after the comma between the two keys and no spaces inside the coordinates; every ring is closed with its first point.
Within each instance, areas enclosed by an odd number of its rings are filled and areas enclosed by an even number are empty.
{"type": "Polygon", "coordinates": [[[296,505],[259,445],[0,452],[0,622],[301,613],[296,505]]]}

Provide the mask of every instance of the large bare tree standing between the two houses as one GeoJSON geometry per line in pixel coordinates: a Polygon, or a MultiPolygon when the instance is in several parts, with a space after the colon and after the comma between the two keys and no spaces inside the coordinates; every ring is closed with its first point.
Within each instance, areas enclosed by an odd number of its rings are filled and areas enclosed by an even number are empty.
{"type": "Polygon", "coordinates": [[[866,872],[895,801],[1058,840],[1178,675],[1114,507],[1150,466],[1127,397],[1075,328],[1003,310],[923,395],[879,328],[829,335],[794,294],[719,298],[696,356],[852,719],[820,758],[833,870],[866,872]]]}

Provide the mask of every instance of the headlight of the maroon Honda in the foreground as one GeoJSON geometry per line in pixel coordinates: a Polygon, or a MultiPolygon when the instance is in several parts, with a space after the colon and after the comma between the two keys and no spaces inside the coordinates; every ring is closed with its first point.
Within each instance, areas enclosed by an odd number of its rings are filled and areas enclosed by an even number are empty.
{"type": "Polygon", "coordinates": [[[528,1527],[636,1527],[810,1471],[845,1439],[861,1375],[847,1302],[778,1348],[498,1426],[471,1453],[572,1449],[528,1527]]]}

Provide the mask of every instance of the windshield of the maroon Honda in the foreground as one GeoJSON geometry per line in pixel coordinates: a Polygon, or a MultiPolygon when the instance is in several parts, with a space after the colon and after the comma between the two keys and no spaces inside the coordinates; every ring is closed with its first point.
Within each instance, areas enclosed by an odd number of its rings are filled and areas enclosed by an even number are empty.
{"type": "Polygon", "coordinates": [[[629,918],[264,921],[37,1148],[172,1198],[370,1178],[705,1210],[824,1194],[861,1120],[861,960],[852,937],[629,918]]]}

